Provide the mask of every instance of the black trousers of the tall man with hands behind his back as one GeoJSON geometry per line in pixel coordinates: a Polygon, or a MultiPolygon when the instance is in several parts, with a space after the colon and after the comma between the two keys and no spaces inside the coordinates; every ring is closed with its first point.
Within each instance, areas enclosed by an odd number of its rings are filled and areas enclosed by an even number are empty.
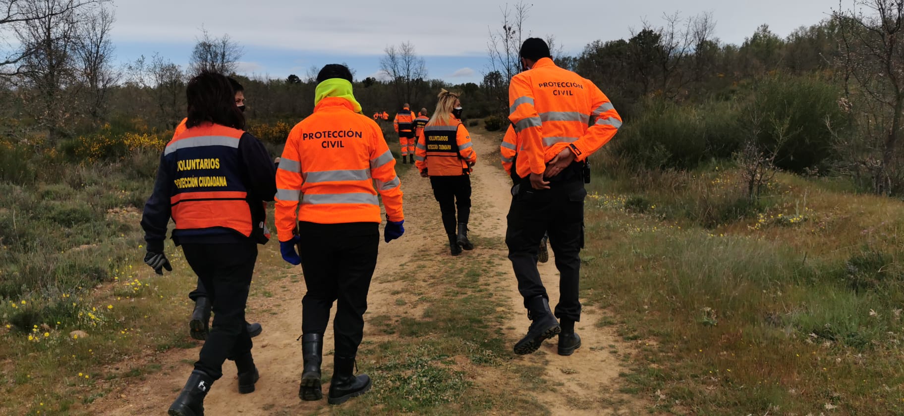
{"type": "Polygon", "coordinates": [[[584,246],[584,182],[580,178],[551,182],[549,190],[534,190],[524,179],[513,187],[512,207],[508,213],[505,244],[509,249],[518,291],[527,300],[537,296],[549,299],[537,270],[537,252],[543,236],[549,233],[550,245],[559,269],[559,304],[555,316],[580,320],[580,249],[584,246]]]}

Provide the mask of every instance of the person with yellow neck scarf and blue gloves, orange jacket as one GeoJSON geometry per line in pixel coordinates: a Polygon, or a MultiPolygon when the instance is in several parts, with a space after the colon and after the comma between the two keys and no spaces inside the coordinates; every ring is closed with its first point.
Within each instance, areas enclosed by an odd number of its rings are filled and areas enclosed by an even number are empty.
{"type": "Polygon", "coordinates": [[[283,259],[301,263],[307,287],[301,300],[304,370],[298,397],[323,398],[323,337],[338,300],[327,402],[340,404],[371,388],[367,374],[353,372],[377,265],[378,191],[387,217],[383,240],[399,238],[405,228],[395,158],[380,126],[355,114],[361,105],[353,96],[351,71],[326,65],[317,82],[314,114],[292,128],[279,162],[276,226],[283,259]]]}

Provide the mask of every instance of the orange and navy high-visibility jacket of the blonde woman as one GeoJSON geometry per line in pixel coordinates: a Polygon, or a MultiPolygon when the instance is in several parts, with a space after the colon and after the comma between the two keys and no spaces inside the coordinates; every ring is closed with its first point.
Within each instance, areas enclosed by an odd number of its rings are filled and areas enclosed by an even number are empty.
{"type": "Polygon", "coordinates": [[[427,169],[429,176],[458,176],[471,172],[470,165],[477,162],[471,136],[465,125],[451,117],[451,125],[426,125],[424,140],[419,140],[414,150],[415,166],[419,171],[427,169]]]}

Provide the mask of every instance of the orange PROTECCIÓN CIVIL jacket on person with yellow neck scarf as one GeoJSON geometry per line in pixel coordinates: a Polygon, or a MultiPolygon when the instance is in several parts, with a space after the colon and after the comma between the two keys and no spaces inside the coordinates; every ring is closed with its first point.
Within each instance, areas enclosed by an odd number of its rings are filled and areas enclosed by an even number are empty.
{"type": "Polygon", "coordinates": [[[297,220],[319,224],[381,222],[379,190],[390,221],[401,221],[402,192],[395,158],[380,126],[354,113],[352,103],[325,97],[288,134],[277,170],[279,241],[297,220]],[[300,199],[300,208],[299,208],[300,199]]]}

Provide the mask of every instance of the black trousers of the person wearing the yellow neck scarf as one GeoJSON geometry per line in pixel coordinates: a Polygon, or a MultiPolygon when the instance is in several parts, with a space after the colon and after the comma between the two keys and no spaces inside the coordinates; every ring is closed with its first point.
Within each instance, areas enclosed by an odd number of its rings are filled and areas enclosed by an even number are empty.
{"type": "Polygon", "coordinates": [[[377,223],[298,223],[299,254],[307,293],[301,300],[301,330],[323,335],[333,302],[335,356],[354,357],[364,334],[364,312],[377,266],[377,223]]]}

